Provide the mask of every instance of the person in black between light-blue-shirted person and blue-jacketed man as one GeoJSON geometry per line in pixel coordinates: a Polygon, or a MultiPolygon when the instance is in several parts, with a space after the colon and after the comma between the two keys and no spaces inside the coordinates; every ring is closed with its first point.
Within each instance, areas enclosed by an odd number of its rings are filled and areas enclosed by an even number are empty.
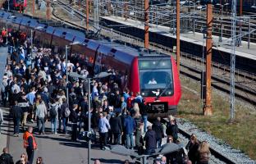
{"type": "Polygon", "coordinates": [[[110,118],[110,127],[114,134],[114,144],[121,144],[122,125],[119,113],[116,113],[115,117],[110,118]]]}

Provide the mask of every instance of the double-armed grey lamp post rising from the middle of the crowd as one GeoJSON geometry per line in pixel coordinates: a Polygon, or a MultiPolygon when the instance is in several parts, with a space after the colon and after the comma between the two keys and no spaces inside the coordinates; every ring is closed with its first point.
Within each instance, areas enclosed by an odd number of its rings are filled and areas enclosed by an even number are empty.
{"type": "MultiPolygon", "coordinates": [[[[111,73],[107,73],[107,72],[100,72],[98,75],[95,75],[93,78],[88,78],[88,77],[84,77],[83,75],[79,75],[77,74],[76,72],[70,72],[68,74],[69,76],[71,77],[74,77],[74,78],[80,78],[80,79],[83,79],[83,80],[87,80],[87,83],[88,83],[88,132],[90,133],[91,131],[91,116],[90,116],[90,82],[91,80],[94,80],[94,79],[102,79],[104,77],[107,77],[108,75],[111,75],[111,73]]],[[[90,163],[90,160],[91,160],[91,157],[90,157],[90,150],[91,150],[91,139],[89,137],[89,140],[88,140],[88,162],[87,163],[90,163]]]]}

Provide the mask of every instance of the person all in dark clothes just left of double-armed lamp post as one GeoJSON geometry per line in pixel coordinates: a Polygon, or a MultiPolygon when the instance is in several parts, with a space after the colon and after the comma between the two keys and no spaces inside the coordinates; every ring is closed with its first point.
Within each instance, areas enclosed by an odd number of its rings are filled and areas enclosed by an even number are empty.
{"type": "Polygon", "coordinates": [[[72,134],[71,134],[71,140],[76,141],[77,139],[77,121],[80,113],[77,114],[78,105],[75,103],[73,105],[73,109],[71,110],[71,124],[72,124],[72,134]]]}

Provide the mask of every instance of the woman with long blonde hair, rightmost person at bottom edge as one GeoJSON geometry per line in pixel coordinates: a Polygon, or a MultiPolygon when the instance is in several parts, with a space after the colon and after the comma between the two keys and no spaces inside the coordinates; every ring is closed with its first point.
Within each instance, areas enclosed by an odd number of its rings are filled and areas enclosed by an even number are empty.
{"type": "Polygon", "coordinates": [[[201,144],[199,144],[199,149],[198,149],[198,160],[197,164],[208,164],[210,160],[210,146],[207,141],[203,141],[201,144]]]}

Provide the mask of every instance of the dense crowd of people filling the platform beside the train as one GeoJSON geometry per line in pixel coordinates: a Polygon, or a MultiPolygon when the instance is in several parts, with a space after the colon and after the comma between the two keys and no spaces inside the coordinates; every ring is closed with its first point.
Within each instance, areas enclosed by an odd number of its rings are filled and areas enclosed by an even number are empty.
{"type": "MultiPolygon", "coordinates": [[[[140,155],[150,155],[156,148],[161,148],[164,137],[167,137],[167,143],[179,144],[175,117],[169,116],[167,125],[162,124],[160,117],[153,125],[147,125],[148,106],[144,104],[144,98],[140,93],[121,89],[123,76],[119,71],[103,68],[111,75],[92,80],[91,95],[88,95],[86,80],[69,76],[66,83],[66,71],[85,78],[93,76],[93,65],[88,58],[81,61],[79,55],[71,54],[66,61],[64,54],[53,52],[52,48],[41,48],[39,45],[31,48],[30,38],[20,31],[11,31],[7,37],[11,57],[2,77],[2,105],[11,107],[13,134],[18,137],[20,127],[24,132],[29,157],[21,163],[33,163],[34,154],[32,156],[29,151],[36,148],[27,123],[34,121],[37,123],[36,131],[41,135],[46,132],[46,121],[51,123],[52,134],[67,134],[67,126],[71,125],[71,140],[76,142],[82,130],[88,131],[90,115],[93,144],[99,144],[102,150],[107,149],[109,144],[121,144],[135,149],[140,155]],[[91,108],[88,107],[89,101],[91,108]],[[31,150],[28,150],[29,147],[31,150]]],[[[188,155],[184,151],[172,153],[155,163],[208,163],[207,146],[205,142],[199,144],[193,135],[186,147],[188,155]]],[[[21,157],[27,158],[25,154],[21,157]]]]}

